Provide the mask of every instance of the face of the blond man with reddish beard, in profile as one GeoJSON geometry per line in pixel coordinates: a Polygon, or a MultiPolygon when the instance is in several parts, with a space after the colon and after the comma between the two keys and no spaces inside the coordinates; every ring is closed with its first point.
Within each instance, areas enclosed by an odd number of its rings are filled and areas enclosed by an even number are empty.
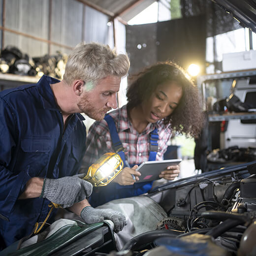
{"type": "Polygon", "coordinates": [[[117,108],[117,92],[119,91],[121,78],[107,76],[101,79],[92,89],[85,85],[85,91],[77,106],[81,113],[100,121],[111,108],[117,108]]]}

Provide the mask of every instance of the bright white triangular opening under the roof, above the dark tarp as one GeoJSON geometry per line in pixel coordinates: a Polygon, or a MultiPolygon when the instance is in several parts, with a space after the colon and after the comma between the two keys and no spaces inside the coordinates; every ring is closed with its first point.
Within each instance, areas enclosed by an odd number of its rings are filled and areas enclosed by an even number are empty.
{"type": "Polygon", "coordinates": [[[145,10],[128,21],[128,25],[139,25],[158,22],[158,2],[153,2],[145,10]]]}

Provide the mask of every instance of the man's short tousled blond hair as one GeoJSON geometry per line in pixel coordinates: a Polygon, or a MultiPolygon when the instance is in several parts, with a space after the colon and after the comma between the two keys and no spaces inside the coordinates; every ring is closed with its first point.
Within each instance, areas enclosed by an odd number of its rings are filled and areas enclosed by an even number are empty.
{"type": "Polygon", "coordinates": [[[69,85],[76,79],[96,84],[109,75],[125,76],[129,66],[128,56],[117,55],[108,45],[82,42],[68,56],[63,79],[69,85]]]}

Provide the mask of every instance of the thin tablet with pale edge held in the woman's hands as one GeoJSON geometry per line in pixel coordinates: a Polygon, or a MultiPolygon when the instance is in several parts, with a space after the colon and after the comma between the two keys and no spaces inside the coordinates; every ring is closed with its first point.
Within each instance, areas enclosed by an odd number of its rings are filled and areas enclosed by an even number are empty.
{"type": "Polygon", "coordinates": [[[148,182],[161,179],[159,177],[160,173],[166,169],[167,166],[177,165],[182,161],[182,159],[168,159],[162,161],[146,161],[140,164],[136,169],[141,173],[139,176],[139,181],[137,182],[148,182]]]}

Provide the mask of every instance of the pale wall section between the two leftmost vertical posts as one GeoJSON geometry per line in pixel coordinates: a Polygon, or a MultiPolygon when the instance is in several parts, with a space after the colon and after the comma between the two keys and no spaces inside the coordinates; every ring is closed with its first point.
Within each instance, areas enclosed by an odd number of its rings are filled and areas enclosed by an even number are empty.
{"type": "MultiPolygon", "coordinates": [[[[48,39],[48,17],[49,1],[40,0],[8,0],[5,1],[5,24],[10,30],[27,33],[42,39],[48,39]]],[[[47,44],[24,35],[4,31],[3,47],[13,45],[22,52],[32,56],[47,53],[47,44]]]]}

